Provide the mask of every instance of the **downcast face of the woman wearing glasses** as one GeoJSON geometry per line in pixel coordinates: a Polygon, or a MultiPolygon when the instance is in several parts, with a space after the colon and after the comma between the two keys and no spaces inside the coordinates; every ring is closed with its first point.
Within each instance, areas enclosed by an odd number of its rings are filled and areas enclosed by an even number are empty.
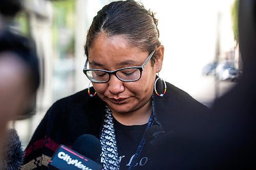
{"type": "MultiPolygon", "coordinates": [[[[163,49],[160,51],[163,52],[163,49]]],[[[90,68],[109,71],[141,66],[150,55],[129,45],[122,36],[106,37],[104,33],[95,39],[88,52],[90,68]]],[[[111,75],[108,82],[93,83],[93,87],[112,112],[132,112],[150,102],[156,72],[161,69],[161,66],[162,59],[158,59],[154,66],[149,61],[142,71],[141,78],[137,81],[122,82],[115,75],[111,75]]]]}

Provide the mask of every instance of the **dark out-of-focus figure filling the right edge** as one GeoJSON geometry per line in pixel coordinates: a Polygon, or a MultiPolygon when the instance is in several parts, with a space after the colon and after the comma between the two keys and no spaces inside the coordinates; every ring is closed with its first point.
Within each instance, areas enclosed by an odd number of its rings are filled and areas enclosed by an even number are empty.
{"type": "Polygon", "coordinates": [[[256,2],[239,1],[243,76],[214,106],[212,169],[256,169],[256,2]]]}

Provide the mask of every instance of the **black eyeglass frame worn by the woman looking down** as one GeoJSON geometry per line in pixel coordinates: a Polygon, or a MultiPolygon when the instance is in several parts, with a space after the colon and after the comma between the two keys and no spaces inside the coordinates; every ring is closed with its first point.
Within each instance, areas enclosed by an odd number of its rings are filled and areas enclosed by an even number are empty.
{"type": "Polygon", "coordinates": [[[86,60],[86,64],[84,64],[84,67],[83,67],[83,74],[86,75],[88,77],[89,80],[91,80],[92,82],[94,83],[106,83],[110,80],[110,76],[111,75],[115,75],[117,77],[117,79],[121,80],[122,82],[134,82],[134,81],[137,81],[137,80],[140,80],[141,78],[141,75],[142,75],[142,71],[144,69],[144,67],[146,66],[147,62],[150,61],[150,59],[152,58],[152,56],[154,55],[154,53],[156,52],[156,50],[153,50],[150,55],[146,58],[145,62],[141,65],[141,66],[134,66],[134,67],[124,67],[124,68],[120,68],[120,69],[117,69],[117,70],[114,70],[114,71],[107,71],[107,70],[103,70],[103,69],[86,69],[86,66],[88,64],[88,59],[86,60]],[[124,69],[130,69],[130,68],[137,68],[140,70],[140,77],[136,80],[122,80],[120,79],[116,73],[120,70],[124,70],[124,69]],[[98,81],[95,81],[93,79],[90,79],[89,76],[86,74],[87,71],[102,71],[102,72],[105,72],[106,74],[109,75],[109,79],[106,80],[106,81],[103,81],[103,82],[98,82],[98,81]]]}

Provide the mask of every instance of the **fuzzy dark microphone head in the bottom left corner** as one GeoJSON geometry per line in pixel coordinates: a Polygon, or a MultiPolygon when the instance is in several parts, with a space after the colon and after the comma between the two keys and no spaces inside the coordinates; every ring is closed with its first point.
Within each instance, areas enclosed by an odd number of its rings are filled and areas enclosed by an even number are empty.
{"type": "Polygon", "coordinates": [[[17,170],[22,166],[24,151],[15,129],[8,129],[2,152],[3,158],[0,161],[0,169],[17,170]]]}

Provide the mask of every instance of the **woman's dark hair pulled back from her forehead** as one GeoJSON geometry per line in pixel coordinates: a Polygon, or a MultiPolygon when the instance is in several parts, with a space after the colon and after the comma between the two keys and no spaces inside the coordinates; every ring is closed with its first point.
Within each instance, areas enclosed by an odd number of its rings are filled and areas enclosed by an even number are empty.
{"type": "MultiPolygon", "coordinates": [[[[121,35],[131,45],[150,53],[161,44],[158,40],[157,22],[155,13],[146,10],[142,4],[133,0],[112,2],[98,11],[93,18],[84,45],[85,53],[89,57],[88,48],[100,33],[109,37],[121,35]]],[[[152,65],[155,58],[156,53],[152,57],[152,65]]]]}

